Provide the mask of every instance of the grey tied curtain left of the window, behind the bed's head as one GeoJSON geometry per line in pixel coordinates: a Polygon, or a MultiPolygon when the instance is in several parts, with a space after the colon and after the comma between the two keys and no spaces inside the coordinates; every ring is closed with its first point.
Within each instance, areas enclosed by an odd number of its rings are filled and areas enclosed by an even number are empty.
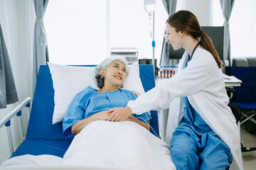
{"type": "Polygon", "coordinates": [[[46,30],[43,25],[43,16],[46,13],[48,1],[49,0],[33,0],[36,11],[32,59],[33,92],[36,87],[36,79],[40,65],[45,65],[49,61],[46,30]]]}

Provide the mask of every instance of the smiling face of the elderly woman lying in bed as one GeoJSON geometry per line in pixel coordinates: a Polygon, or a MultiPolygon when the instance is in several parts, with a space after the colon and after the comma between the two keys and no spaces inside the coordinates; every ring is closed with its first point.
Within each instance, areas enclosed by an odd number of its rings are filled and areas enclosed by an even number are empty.
{"type": "Polygon", "coordinates": [[[111,84],[114,86],[121,87],[124,84],[124,80],[126,78],[126,69],[124,67],[124,63],[119,60],[112,62],[105,69],[105,80],[104,83],[111,84]]]}

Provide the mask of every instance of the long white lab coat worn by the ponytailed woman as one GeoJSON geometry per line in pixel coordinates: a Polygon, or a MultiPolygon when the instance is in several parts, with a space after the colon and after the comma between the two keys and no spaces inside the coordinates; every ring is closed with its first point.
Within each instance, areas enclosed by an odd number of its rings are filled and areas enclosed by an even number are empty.
{"type": "Polygon", "coordinates": [[[230,169],[242,169],[240,131],[228,107],[229,98],[225,91],[222,71],[210,52],[202,47],[196,48],[192,60],[188,62],[186,69],[183,69],[187,55],[188,52],[185,52],[174,77],[160,81],[154,89],[142,94],[136,101],[129,101],[127,106],[132,109],[132,113],[137,114],[170,107],[172,127],[176,128],[183,116],[181,97],[188,96],[191,106],[230,147],[233,154],[230,169]],[[174,98],[179,98],[180,106],[174,106],[171,102],[174,98]]]}

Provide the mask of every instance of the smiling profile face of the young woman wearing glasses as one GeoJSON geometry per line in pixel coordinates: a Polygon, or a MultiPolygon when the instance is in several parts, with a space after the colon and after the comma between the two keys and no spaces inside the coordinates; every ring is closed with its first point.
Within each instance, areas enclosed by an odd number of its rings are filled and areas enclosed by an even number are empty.
{"type": "Polygon", "coordinates": [[[181,30],[176,32],[176,28],[166,23],[166,42],[170,43],[174,50],[181,48],[181,30]]]}

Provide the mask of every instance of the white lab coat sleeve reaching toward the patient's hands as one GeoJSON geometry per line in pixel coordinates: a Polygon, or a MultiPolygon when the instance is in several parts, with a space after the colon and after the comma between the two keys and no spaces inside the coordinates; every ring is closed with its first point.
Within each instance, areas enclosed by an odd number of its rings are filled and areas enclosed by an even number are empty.
{"type": "Polygon", "coordinates": [[[203,90],[207,84],[208,69],[205,61],[194,58],[188,62],[186,69],[181,69],[174,77],[160,81],[154,89],[129,101],[127,106],[132,113],[142,114],[146,111],[169,108],[169,103],[177,97],[190,96],[203,90]]]}

